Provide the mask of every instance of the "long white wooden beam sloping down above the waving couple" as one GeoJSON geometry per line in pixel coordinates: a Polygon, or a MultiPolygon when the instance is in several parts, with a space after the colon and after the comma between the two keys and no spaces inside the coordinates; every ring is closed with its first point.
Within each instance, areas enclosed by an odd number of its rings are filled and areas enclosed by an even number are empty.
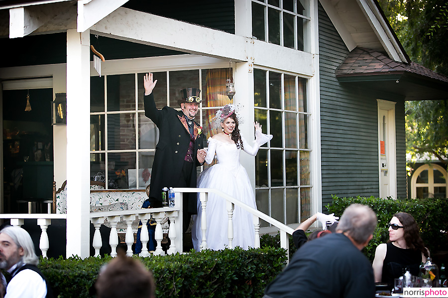
{"type": "Polygon", "coordinates": [[[91,32],[191,54],[249,62],[252,66],[314,74],[310,53],[123,7],[92,26],[91,32]]]}

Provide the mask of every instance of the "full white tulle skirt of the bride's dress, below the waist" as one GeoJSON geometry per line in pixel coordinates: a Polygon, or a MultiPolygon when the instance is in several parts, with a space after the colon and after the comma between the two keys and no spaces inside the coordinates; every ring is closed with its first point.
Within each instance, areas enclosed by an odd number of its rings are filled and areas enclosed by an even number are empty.
{"type": "MultiPolygon", "coordinates": [[[[204,170],[198,177],[198,187],[216,188],[229,196],[256,209],[255,197],[249,177],[243,166],[238,169],[228,169],[224,164],[215,164],[204,170]]],[[[199,194],[198,194],[199,196],[199,194]]],[[[207,247],[213,250],[224,249],[228,246],[228,215],[226,200],[215,194],[209,194],[207,202],[207,247]]],[[[193,246],[199,250],[202,243],[201,230],[201,202],[198,198],[198,215],[192,217],[193,246]]],[[[233,240],[232,246],[243,249],[254,246],[255,229],[253,216],[245,210],[235,206],[233,211],[233,240]]]]}

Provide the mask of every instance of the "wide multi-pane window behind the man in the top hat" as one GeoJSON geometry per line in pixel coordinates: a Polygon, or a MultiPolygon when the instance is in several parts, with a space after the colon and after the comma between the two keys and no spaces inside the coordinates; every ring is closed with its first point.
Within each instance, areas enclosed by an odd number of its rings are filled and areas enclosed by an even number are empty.
{"type": "MultiPolygon", "coordinates": [[[[103,177],[107,189],[145,188],[150,182],[159,130],[144,115],[143,75],[91,77],[91,180],[103,177]]],[[[156,106],[180,109],[180,90],[201,88],[203,102],[196,121],[208,138],[216,133],[209,120],[230,102],[225,95],[228,75],[228,69],[154,73],[156,106]]]]}

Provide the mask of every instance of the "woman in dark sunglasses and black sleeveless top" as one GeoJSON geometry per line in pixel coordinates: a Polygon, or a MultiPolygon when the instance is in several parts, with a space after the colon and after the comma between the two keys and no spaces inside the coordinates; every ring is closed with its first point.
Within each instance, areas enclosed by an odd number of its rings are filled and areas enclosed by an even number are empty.
{"type": "Polygon", "coordinates": [[[373,260],[375,282],[394,285],[394,279],[409,268],[412,275],[419,274],[420,264],[426,262],[429,251],[419,234],[412,215],[400,212],[389,222],[389,241],[376,247],[373,260]]]}

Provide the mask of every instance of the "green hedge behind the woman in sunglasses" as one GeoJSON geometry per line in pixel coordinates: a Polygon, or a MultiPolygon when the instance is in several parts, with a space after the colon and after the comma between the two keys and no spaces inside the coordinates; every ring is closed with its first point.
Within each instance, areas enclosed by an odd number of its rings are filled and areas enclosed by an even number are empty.
{"type": "Polygon", "coordinates": [[[446,250],[448,247],[448,199],[412,199],[392,200],[381,198],[339,198],[333,196],[333,204],[328,205],[329,213],[341,216],[345,208],[358,203],[367,205],[376,213],[378,226],[373,239],[363,250],[373,260],[376,246],[389,239],[387,224],[395,213],[407,212],[412,215],[420,227],[420,235],[431,253],[446,250]]]}

